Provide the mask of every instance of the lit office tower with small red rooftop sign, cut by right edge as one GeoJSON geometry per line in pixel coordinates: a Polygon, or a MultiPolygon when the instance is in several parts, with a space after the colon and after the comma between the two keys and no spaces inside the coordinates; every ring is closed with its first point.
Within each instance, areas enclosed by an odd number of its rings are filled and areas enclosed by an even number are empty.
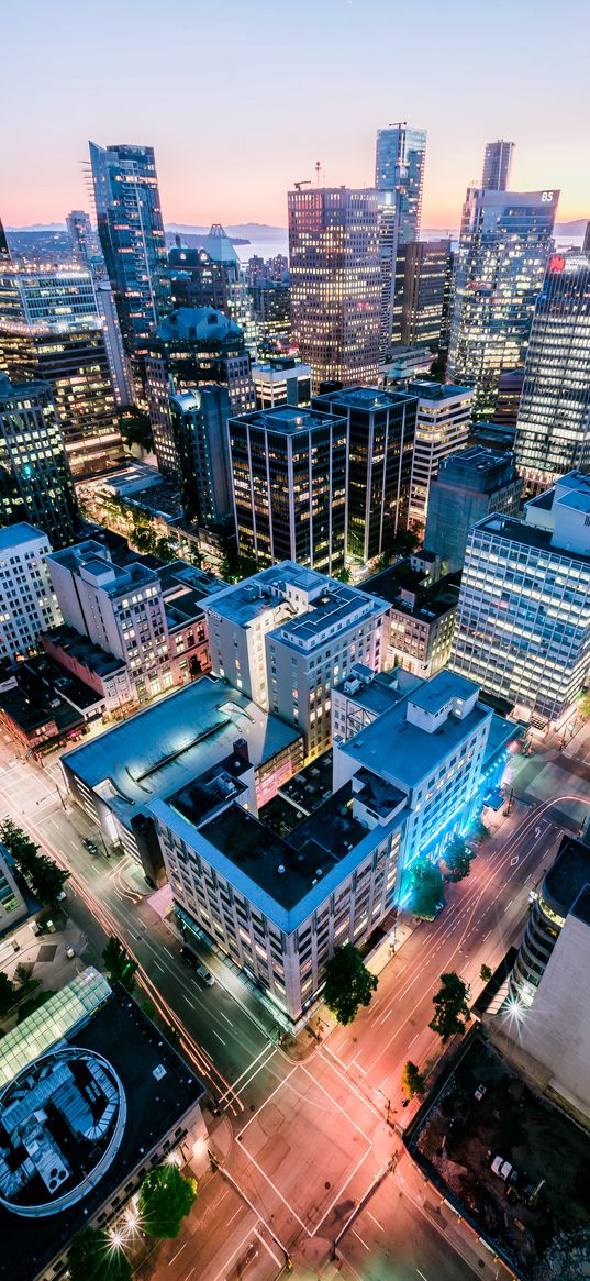
{"type": "Polygon", "coordinates": [[[536,300],[516,429],[527,485],[590,468],[590,254],[554,254],[536,300]]]}

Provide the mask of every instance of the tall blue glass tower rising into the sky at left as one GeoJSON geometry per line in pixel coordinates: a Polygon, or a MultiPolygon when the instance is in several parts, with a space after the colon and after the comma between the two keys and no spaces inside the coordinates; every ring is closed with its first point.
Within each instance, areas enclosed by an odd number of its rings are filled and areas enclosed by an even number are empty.
{"type": "Polygon", "coordinates": [[[90,143],[96,222],[125,352],[138,356],[171,306],[154,147],[90,143]]]}

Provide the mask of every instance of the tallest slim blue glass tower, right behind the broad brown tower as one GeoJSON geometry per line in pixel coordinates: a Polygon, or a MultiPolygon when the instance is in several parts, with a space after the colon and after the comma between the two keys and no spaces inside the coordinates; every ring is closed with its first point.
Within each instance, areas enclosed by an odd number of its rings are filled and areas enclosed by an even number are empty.
{"type": "Polygon", "coordinates": [[[378,129],[375,187],[379,202],[379,266],[381,284],[379,355],[392,346],[398,252],[420,234],[426,132],[407,124],[378,129]]]}

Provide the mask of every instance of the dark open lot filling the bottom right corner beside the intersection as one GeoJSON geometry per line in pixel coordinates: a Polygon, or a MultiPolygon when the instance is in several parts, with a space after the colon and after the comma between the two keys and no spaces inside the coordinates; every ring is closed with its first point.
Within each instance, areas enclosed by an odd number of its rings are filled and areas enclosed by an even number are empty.
{"type": "Polygon", "coordinates": [[[570,1234],[584,1234],[587,1259],[590,1135],[526,1084],[480,1031],[426,1099],[407,1146],[442,1196],[523,1281],[581,1276],[561,1264],[573,1263],[570,1234]],[[480,1102],[479,1085],[486,1090],[480,1102]],[[491,1171],[497,1155],[518,1173],[509,1199],[491,1171]],[[538,1187],[530,1204],[525,1189],[538,1187]]]}

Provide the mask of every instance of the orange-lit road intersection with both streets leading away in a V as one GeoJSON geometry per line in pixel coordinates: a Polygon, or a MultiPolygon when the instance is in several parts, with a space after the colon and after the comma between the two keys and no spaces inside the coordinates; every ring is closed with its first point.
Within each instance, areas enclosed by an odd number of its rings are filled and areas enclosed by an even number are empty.
{"type": "MultiPolygon", "coordinates": [[[[207,956],[218,983],[198,985],[148,895],[129,888],[124,866],[90,858],[81,840],[96,833],[81,811],[59,799],[56,762],[41,771],[0,751],[1,806],[70,867],[68,894],[88,952],[100,952],[104,931],[128,943],[146,989],[183,1029],[187,1050],[225,1108],[219,1134],[227,1146],[211,1136],[223,1171],[202,1179],[179,1239],[151,1254],[141,1277],[271,1281],[287,1254],[296,1275],[316,1275],[343,1228],[343,1271],[357,1281],[468,1275],[401,1176],[388,1173],[399,1146],[388,1122],[403,1121],[403,1063],[411,1057],[427,1067],[439,1053],[427,1024],[440,974],[457,970],[475,997],[481,963],[494,966],[520,940],[529,892],[562,825],[576,828],[586,811],[590,783],[580,760],[586,742],[573,738],[570,755],[566,748],[516,762],[520,799],[509,817],[494,820],[498,830],[470,877],[449,888],[444,912],[419,925],[387,965],[370,1008],[312,1050],[307,1043],[301,1061],[301,1039],[289,1053],[273,1044],[271,1016],[216,958],[207,956]]],[[[495,1276],[485,1258],[479,1275],[495,1276]]]]}

